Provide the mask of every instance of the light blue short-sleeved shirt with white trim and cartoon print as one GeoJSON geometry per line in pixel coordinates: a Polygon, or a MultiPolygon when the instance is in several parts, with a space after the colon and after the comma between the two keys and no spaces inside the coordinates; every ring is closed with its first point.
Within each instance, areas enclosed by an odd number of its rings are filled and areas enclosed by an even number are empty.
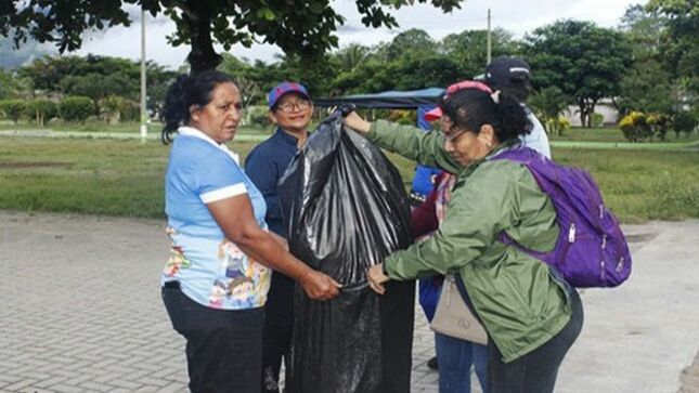
{"type": "Polygon", "coordinates": [[[262,306],[270,270],[225,238],[206,204],[247,194],[258,225],[267,230],[264,198],[225,145],[190,127],[178,132],[165,175],[172,250],[161,283],[180,281],[185,296],[210,307],[262,306]]]}

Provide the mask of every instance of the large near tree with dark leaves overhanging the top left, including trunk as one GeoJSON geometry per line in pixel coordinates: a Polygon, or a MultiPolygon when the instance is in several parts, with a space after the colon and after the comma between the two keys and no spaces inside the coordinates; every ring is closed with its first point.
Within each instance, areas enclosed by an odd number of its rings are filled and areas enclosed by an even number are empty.
{"type": "MultiPolygon", "coordinates": [[[[444,12],[459,8],[463,0],[431,0],[444,12]]],[[[417,0],[425,3],[427,0],[417,0]]],[[[177,25],[169,37],[173,45],[191,44],[187,56],[192,71],[216,68],[221,57],[213,50],[218,41],[228,51],[233,44],[250,47],[255,41],[280,47],[287,55],[314,57],[337,47],[334,32],[345,22],[327,0],[7,0],[0,2],[0,35],[22,43],[27,37],[55,42],[59,50],[74,51],[89,29],[131,24],[126,4],[139,3],[153,16],[163,13],[177,25]]],[[[357,0],[362,23],[372,27],[396,27],[390,11],[414,4],[414,0],[357,0]]]]}

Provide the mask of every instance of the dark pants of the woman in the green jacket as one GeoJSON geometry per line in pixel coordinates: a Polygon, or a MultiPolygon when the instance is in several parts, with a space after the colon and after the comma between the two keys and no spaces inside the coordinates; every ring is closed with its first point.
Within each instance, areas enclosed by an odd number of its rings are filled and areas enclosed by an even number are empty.
{"type": "Polygon", "coordinates": [[[556,384],[558,367],[580,335],[583,309],[580,296],[571,293],[572,316],[566,327],[548,342],[510,363],[492,342],[488,345],[488,372],[491,393],[551,393],[556,384]]]}

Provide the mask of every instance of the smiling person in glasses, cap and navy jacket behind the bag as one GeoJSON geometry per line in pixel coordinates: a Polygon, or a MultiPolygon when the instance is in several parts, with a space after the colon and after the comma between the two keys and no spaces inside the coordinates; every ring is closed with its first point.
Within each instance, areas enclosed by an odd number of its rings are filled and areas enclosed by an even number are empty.
{"type": "MultiPolygon", "coordinates": [[[[264,197],[264,219],[270,230],[286,239],[276,184],[308,137],[313,104],[306,88],[296,82],[274,87],[267,103],[276,131],[250,152],[245,159],[245,172],[264,197]]],[[[294,327],[294,280],[284,273],[272,273],[264,311],[262,391],[279,392],[280,368],[282,359],[287,358],[294,327]]]]}

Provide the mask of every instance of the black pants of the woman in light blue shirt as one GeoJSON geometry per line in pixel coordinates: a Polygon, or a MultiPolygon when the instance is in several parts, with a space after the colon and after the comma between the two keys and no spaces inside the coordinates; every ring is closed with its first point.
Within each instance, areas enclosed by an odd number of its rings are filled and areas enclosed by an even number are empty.
{"type": "Polygon", "coordinates": [[[187,298],[177,283],[163,288],[172,327],[186,339],[193,393],[259,393],[264,310],[216,310],[187,298]]]}

